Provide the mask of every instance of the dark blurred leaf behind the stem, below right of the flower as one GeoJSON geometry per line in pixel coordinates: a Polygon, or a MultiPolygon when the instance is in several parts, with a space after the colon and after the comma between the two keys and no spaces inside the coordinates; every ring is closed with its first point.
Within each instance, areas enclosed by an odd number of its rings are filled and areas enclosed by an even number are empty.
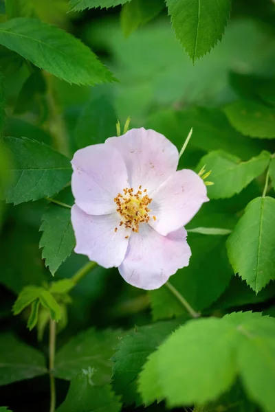
{"type": "MultiPolygon", "coordinates": [[[[192,256],[189,266],[179,269],[169,282],[184,296],[192,308],[208,308],[225,290],[232,277],[223,236],[188,235],[192,256]]],[[[175,296],[162,286],[149,292],[153,319],[167,319],[186,314],[186,309],[175,296]]]]}

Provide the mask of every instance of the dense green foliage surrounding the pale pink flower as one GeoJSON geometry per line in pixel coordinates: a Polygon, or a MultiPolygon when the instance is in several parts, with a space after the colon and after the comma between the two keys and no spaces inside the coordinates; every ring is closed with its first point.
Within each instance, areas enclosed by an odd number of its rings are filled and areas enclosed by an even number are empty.
{"type": "Polygon", "coordinates": [[[0,0],[0,412],[275,412],[274,21],[272,0],[0,0]],[[179,170],[207,175],[157,290],[74,252],[70,162],[128,117],[179,150],[192,128],[179,170]]]}

